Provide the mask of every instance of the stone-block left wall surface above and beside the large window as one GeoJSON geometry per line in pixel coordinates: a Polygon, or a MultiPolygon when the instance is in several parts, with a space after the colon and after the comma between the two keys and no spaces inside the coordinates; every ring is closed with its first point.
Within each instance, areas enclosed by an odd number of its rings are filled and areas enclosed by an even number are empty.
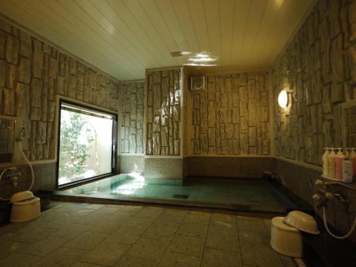
{"type": "Polygon", "coordinates": [[[117,80],[0,19],[0,115],[23,119],[30,160],[55,158],[56,95],[118,111],[117,80]]]}

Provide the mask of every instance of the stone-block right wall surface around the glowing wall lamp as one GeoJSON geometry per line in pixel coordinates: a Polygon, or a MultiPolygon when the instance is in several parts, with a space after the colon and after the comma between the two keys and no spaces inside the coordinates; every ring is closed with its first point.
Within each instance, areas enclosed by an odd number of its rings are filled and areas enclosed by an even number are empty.
{"type": "Polygon", "coordinates": [[[318,1],[273,66],[273,91],[276,155],[321,165],[323,147],[342,146],[339,104],[356,98],[355,0],[318,1]]]}

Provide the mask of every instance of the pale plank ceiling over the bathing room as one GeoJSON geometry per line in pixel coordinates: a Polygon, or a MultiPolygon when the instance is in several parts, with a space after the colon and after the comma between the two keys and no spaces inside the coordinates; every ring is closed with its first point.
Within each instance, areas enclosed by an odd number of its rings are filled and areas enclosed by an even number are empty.
{"type": "Polygon", "coordinates": [[[4,16],[119,80],[209,51],[214,71],[270,68],[314,0],[0,0],[4,16]]]}

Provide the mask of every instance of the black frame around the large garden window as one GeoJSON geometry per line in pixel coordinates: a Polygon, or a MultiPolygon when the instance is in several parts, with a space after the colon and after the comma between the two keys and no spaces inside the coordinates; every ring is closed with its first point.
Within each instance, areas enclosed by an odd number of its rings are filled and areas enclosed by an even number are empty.
{"type": "Polygon", "coordinates": [[[58,136],[58,140],[57,140],[57,173],[56,173],[56,188],[57,189],[73,187],[73,185],[85,184],[85,183],[93,181],[93,180],[104,179],[104,178],[107,178],[107,177],[117,174],[117,125],[118,125],[117,113],[109,112],[107,110],[101,110],[99,107],[93,108],[93,106],[85,105],[82,103],[75,103],[73,101],[66,100],[66,99],[59,100],[58,135],[57,135],[58,136]],[[58,180],[59,179],[59,154],[60,154],[60,147],[61,147],[61,113],[62,113],[62,105],[63,104],[73,105],[75,107],[83,108],[83,109],[93,111],[93,112],[100,112],[103,114],[110,115],[114,118],[114,120],[112,120],[111,172],[106,173],[106,174],[100,174],[100,175],[90,177],[90,178],[80,179],[78,181],[73,181],[73,182],[69,182],[66,184],[58,184],[58,182],[59,182],[59,180],[58,180]]]}

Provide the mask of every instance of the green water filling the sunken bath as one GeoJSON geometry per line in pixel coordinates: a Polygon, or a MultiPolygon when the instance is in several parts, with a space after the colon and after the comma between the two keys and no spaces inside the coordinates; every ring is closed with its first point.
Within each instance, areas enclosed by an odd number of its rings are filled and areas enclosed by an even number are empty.
{"type": "Polygon", "coordinates": [[[140,174],[120,174],[63,191],[100,197],[137,197],[294,208],[290,199],[262,179],[189,178],[184,186],[148,184],[140,174]]]}

